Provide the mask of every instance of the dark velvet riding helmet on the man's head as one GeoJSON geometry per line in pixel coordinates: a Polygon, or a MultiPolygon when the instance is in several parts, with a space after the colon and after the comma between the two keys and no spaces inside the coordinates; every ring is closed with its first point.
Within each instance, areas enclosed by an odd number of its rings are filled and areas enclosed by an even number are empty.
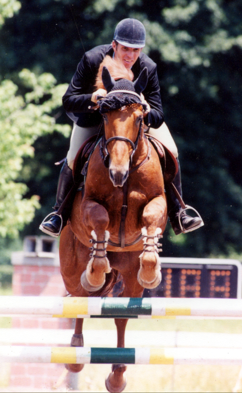
{"type": "Polygon", "coordinates": [[[145,46],[145,28],[137,19],[123,19],[115,29],[113,39],[129,48],[143,48],[145,46]]]}

